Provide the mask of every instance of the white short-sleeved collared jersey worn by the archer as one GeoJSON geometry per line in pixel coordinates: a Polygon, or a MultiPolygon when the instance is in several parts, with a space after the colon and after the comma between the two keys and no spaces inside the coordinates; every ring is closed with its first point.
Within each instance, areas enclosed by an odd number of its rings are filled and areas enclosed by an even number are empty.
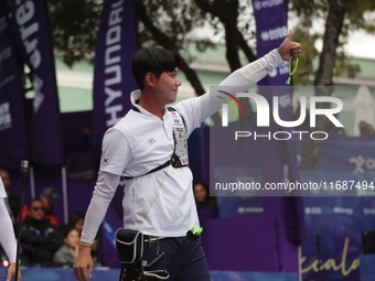
{"type": "MultiPolygon", "coordinates": [[[[171,165],[147,174],[171,159],[174,139],[173,120],[165,110],[163,120],[138,106],[140,91],[131,93],[133,107],[109,129],[103,141],[100,171],[122,176],[126,181],[124,225],[154,236],[184,236],[192,226],[199,226],[193,175],[190,167],[171,165]]],[[[188,137],[201,126],[199,98],[183,100],[174,106],[184,118],[188,137]]]]}

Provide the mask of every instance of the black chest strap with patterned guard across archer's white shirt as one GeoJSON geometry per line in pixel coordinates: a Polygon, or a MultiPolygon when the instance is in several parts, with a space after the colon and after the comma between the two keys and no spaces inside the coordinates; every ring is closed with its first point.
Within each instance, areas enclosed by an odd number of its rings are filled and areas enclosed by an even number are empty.
{"type": "MultiPolygon", "coordinates": [[[[139,109],[137,107],[132,107],[132,109],[139,112],[139,109]]],[[[159,170],[164,169],[165,166],[169,166],[170,164],[172,164],[173,167],[189,166],[188,132],[186,132],[185,121],[183,117],[173,107],[168,107],[168,111],[170,111],[171,117],[172,117],[172,132],[173,132],[173,141],[174,141],[174,149],[173,149],[172,156],[164,164],[157,166],[156,169],[152,169],[146,174],[154,173],[159,170]]],[[[138,176],[125,176],[126,180],[130,180],[135,177],[138,177],[138,176]]]]}

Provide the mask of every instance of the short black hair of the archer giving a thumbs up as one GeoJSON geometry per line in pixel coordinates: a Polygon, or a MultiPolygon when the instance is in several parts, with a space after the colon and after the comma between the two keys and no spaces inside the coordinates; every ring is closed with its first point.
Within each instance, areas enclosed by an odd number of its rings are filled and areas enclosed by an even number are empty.
{"type": "Polygon", "coordinates": [[[143,79],[147,73],[160,77],[163,72],[173,72],[180,67],[181,56],[169,50],[147,47],[139,50],[132,57],[131,71],[140,90],[144,88],[143,79]]]}

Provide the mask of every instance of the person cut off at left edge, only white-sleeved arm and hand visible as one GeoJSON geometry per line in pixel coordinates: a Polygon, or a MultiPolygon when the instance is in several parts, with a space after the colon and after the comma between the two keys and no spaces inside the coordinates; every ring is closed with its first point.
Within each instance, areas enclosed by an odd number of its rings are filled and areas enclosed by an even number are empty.
{"type": "MultiPolygon", "coordinates": [[[[0,177],[0,244],[10,261],[7,275],[7,281],[10,281],[12,277],[15,277],[17,242],[12,220],[4,203],[6,197],[6,188],[0,177]]],[[[20,281],[21,279],[22,275],[19,271],[18,281],[20,281]]]]}

